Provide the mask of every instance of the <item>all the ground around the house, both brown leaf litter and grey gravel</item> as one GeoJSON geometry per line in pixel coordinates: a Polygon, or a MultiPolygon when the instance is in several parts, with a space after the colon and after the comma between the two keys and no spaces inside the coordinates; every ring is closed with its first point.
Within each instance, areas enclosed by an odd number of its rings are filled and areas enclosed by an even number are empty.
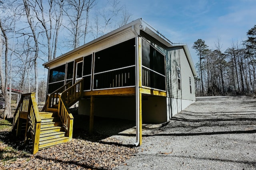
{"type": "Polygon", "coordinates": [[[132,121],[95,118],[88,136],[88,118],[74,115],[74,139],[36,155],[0,131],[0,169],[256,170],[255,103],[246,96],[198,97],[170,122],[143,125],[136,148],[132,121]]]}

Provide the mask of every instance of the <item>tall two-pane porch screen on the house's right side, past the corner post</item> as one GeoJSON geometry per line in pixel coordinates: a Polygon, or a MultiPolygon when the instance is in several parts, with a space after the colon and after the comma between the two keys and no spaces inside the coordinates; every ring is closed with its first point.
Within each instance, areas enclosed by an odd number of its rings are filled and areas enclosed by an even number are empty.
{"type": "Polygon", "coordinates": [[[165,56],[142,39],[142,85],[166,90],[165,56]]]}

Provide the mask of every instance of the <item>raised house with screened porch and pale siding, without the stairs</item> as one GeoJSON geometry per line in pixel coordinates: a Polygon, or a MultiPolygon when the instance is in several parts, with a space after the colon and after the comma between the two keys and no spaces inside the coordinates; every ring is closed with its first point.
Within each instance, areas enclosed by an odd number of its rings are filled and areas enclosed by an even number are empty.
{"type": "Polygon", "coordinates": [[[78,114],[163,123],[195,102],[196,70],[188,46],[172,43],[142,19],[43,64],[47,93],[83,80],[78,114]]]}

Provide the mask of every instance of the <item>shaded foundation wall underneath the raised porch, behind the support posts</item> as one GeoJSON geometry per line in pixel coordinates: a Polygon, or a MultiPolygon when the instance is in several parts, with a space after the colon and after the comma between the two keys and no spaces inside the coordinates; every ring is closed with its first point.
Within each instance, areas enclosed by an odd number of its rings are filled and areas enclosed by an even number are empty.
{"type": "MultiPolygon", "coordinates": [[[[79,115],[90,115],[90,99],[81,99],[79,115]]],[[[95,98],[94,116],[136,121],[135,97],[95,98]]],[[[142,122],[163,123],[166,117],[166,97],[143,97],[142,122]]]]}

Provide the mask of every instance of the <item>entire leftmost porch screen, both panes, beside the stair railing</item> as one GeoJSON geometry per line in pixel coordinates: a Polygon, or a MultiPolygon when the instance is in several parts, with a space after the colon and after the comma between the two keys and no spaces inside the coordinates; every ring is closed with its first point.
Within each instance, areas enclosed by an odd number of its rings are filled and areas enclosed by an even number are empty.
{"type": "Polygon", "coordinates": [[[48,94],[64,85],[66,64],[50,69],[48,94]]]}

